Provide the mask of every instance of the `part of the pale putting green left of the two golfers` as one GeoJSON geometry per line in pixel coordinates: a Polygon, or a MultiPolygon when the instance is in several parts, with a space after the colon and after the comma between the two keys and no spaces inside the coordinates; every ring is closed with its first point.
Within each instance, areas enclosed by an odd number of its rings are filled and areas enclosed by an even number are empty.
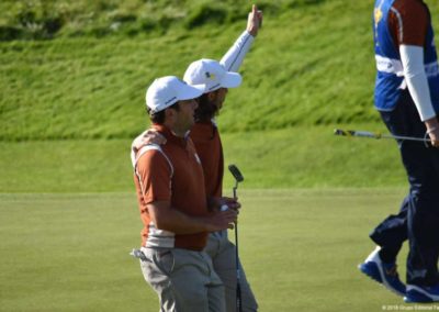
{"type": "Polygon", "coordinates": [[[1,194],[0,210],[0,311],[140,311],[154,302],[128,256],[139,243],[132,194],[1,194]]]}

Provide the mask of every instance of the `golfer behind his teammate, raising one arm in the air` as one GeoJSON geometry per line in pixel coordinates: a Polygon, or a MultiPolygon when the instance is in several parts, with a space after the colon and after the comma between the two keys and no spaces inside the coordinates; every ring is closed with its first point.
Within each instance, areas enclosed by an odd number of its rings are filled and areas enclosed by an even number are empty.
{"type": "MultiPolygon", "coordinates": [[[[205,190],[210,198],[223,197],[224,158],[219,132],[214,122],[215,115],[221,110],[227,94],[227,88],[236,88],[241,78],[235,74],[240,68],[244,58],[250,49],[262,22],[262,12],[252,5],[248,14],[247,27],[236,40],[219,63],[212,59],[200,59],[192,63],[184,75],[189,83],[203,81],[206,89],[199,99],[195,113],[196,121],[191,129],[190,136],[195,144],[204,170],[205,190]]],[[[151,129],[144,132],[133,142],[133,152],[142,146],[155,142],[161,144],[166,138],[151,129]]],[[[205,252],[211,257],[216,274],[222,279],[226,291],[227,312],[236,311],[236,267],[235,245],[227,237],[227,231],[211,233],[205,252]]],[[[240,266],[240,264],[239,264],[240,266]]],[[[247,281],[244,267],[240,266],[241,304],[244,312],[258,310],[255,294],[247,281]]]]}

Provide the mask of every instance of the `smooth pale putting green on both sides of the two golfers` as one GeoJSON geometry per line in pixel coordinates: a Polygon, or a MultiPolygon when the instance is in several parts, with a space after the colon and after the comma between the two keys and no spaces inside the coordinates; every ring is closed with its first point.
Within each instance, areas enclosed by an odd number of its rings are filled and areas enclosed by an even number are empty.
{"type": "MultiPolygon", "coordinates": [[[[238,196],[239,252],[260,311],[413,308],[357,269],[404,189],[238,196]]],[[[142,227],[134,193],[0,193],[0,311],[158,311],[128,255],[142,227]]]]}

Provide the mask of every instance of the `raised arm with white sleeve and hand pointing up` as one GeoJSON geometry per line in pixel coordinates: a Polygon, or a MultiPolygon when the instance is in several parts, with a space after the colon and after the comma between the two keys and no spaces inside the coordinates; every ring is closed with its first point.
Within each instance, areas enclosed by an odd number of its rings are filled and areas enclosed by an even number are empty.
{"type": "Polygon", "coordinates": [[[237,38],[233,46],[223,56],[219,63],[229,71],[238,71],[244,62],[244,57],[250,49],[251,44],[258,34],[260,23],[262,22],[262,12],[254,4],[251,12],[248,13],[247,29],[237,38]]]}

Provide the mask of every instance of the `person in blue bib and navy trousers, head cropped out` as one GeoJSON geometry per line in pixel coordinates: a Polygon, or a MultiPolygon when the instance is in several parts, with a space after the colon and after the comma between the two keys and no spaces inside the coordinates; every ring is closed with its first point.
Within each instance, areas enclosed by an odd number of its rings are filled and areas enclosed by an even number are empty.
{"type": "Polygon", "coordinates": [[[409,192],[397,215],[370,234],[378,244],[360,270],[406,302],[439,302],[439,67],[431,15],[421,0],[376,0],[373,12],[376,60],[374,103],[398,140],[409,192]],[[408,239],[407,276],[397,275],[396,257],[408,239]]]}

